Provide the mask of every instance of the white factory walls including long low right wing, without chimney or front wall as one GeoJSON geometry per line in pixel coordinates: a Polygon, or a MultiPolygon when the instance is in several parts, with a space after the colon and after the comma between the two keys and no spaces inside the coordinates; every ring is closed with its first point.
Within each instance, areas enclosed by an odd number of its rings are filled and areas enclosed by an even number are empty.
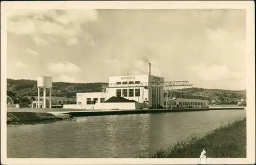
{"type": "MultiPolygon", "coordinates": [[[[129,100],[135,100],[139,103],[146,102],[149,108],[165,108],[166,97],[164,87],[134,87],[141,82],[164,82],[163,77],[146,75],[127,75],[127,76],[111,76],[109,84],[113,88],[106,88],[103,92],[87,92],[77,93],[76,105],[64,105],[66,108],[94,109],[97,103],[103,103],[105,100],[115,96],[123,97],[129,100]],[[133,86],[133,87],[131,87],[133,86]]],[[[139,85],[138,85],[139,86],[139,85]]],[[[167,98],[168,107],[207,107],[209,106],[208,97],[175,94],[175,99],[167,98]]]]}

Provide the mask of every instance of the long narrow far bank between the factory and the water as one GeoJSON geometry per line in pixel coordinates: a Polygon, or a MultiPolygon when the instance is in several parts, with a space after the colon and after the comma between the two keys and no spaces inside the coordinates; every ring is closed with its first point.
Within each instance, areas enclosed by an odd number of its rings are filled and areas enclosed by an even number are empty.
{"type": "MultiPolygon", "coordinates": [[[[108,110],[108,111],[53,111],[53,112],[7,112],[7,124],[9,123],[38,123],[45,121],[70,120],[74,117],[131,115],[131,114],[155,114],[155,113],[177,113],[195,111],[235,110],[244,108],[186,108],[186,109],[139,109],[139,110],[108,110]]],[[[73,109],[74,110],[74,109],[73,109]]],[[[75,109],[77,110],[77,109],[75,109]]]]}

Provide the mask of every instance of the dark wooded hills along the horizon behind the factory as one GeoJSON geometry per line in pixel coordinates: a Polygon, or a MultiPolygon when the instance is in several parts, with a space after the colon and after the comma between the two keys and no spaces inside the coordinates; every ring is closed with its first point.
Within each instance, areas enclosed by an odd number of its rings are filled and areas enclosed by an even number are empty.
{"type": "MultiPolygon", "coordinates": [[[[71,82],[53,82],[52,96],[56,100],[74,100],[78,92],[100,92],[103,82],[95,83],[71,83],[71,82]],[[73,98],[73,99],[72,99],[73,98]]],[[[174,90],[173,93],[181,93],[196,96],[207,96],[209,101],[218,104],[237,104],[241,99],[246,100],[246,90],[231,91],[222,89],[203,89],[203,88],[185,88],[174,90]]],[[[28,79],[7,79],[7,96],[9,100],[24,100],[26,97],[37,96],[37,81],[28,79]]],[[[33,100],[32,99],[32,100],[33,100]]],[[[15,101],[14,101],[15,102],[15,101]]]]}

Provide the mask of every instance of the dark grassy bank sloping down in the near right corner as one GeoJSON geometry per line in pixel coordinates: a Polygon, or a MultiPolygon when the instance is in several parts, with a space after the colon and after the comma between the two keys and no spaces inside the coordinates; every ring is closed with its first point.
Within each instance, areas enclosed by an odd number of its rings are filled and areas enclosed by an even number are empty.
{"type": "Polygon", "coordinates": [[[245,158],[246,119],[221,126],[201,139],[191,136],[187,141],[157,151],[152,158],[198,158],[204,148],[205,155],[211,158],[245,158]]]}

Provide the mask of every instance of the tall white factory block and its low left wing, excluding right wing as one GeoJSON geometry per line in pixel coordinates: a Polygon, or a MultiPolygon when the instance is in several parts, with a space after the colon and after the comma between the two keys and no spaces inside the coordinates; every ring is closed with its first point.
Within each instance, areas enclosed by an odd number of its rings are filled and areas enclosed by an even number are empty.
{"type": "Polygon", "coordinates": [[[148,107],[157,108],[164,104],[163,87],[150,87],[146,89],[144,87],[129,87],[129,85],[139,84],[140,82],[163,81],[163,77],[153,75],[111,76],[109,77],[109,84],[116,84],[124,87],[108,88],[105,92],[77,93],[77,104],[93,106],[97,102],[104,102],[105,100],[115,96],[135,100],[137,102],[147,102],[148,107]]]}

